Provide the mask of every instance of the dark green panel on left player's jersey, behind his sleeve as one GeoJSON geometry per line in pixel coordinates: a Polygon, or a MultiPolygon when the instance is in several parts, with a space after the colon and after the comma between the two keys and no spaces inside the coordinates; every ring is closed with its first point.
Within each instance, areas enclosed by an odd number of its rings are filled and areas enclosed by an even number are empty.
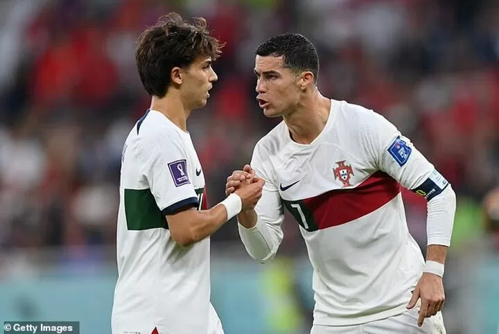
{"type": "Polygon", "coordinates": [[[128,230],[168,229],[150,189],[125,189],[125,216],[128,230]]]}

